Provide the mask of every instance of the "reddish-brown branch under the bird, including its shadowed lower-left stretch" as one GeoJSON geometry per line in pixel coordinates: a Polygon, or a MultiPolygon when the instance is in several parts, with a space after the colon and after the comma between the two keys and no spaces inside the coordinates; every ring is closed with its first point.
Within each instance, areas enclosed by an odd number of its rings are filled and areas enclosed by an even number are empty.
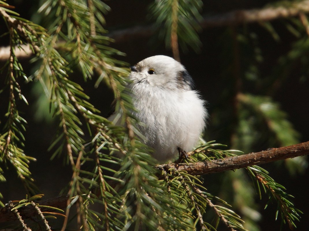
{"type": "MultiPolygon", "coordinates": [[[[259,165],[262,163],[269,163],[277,160],[293,158],[308,154],[309,154],[309,141],[281,148],[271,148],[266,151],[249,153],[246,155],[227,157],[224,159],[214,161],[197,162],[191,164],[170,163],[170,164],[159,165],[157,168],[165,170],[169,168],[175,168],[177,170],[187,171],[191,175],[203,175],[208,173],[222,172],[226,170],[248,167],[252,165],[259,165]]],[[[67,199],[68,199],[67,195],[64,195],[37,202],[40,205],[47,205],[56,208],[66,208],[67,199]]],[[[42,208],[41,211],[44,212],[52,210],[48,208],[42,208]]],[[[18,212],[23,218],[31,217],[34,213],[33,209],[28,206],[19,208],[18,212]]],[[[11,208],[9,207],[0,208],[0,222],[12,221],[15,219],[16,216],[14,212],[11,211],[11,208]]]]}

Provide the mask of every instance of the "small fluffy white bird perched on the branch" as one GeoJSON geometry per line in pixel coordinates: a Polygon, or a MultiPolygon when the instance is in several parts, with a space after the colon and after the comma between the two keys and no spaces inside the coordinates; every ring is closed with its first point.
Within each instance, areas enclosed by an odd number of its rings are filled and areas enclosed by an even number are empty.
{"type": "Polygon", "coordinates": [[[152,56],[132,66],[129,78],[133,115],[144,124],[139,130],[155,150],[152,155],[163,163],[191,151],[208,114],[184,66],[168,56],[152,56]]]}

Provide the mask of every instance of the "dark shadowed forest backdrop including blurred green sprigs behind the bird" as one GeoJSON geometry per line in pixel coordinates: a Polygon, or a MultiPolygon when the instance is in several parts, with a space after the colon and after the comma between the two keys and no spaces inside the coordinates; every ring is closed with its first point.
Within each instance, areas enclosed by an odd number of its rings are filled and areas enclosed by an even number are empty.
{"type": "MultiPolygon", "coordinates": [[[[50,22],[46,22],[44,15],[37,13],[42,2],[44,1],[7,1],[16,7],[13,10],[18,12],[20,17],[45,27],[50,22]]],[[[150,17],[149,5],[153,1],[104,2],[111,9],[104,15],[104,29],[108,31],[106,36],[115,39],[110,46],[125,53],[125,56],[116,56],[116,59],[134,65],[149,56],[173,56],[169,44],[166,45],[164,39],[160,38],[158,28],[151,27],[155,19],[150,17]]],[[[200,13],[207,19],[235,10],[289,7],[292,2],[308,1],[202,2],[200,13]]],[[[308,13],[309,6],[303,13],[306,19],[308,13]]],[[[197,29],[200,46],[181,46],[180,42],[181,63],[207,101],[210,118],[204,134],[206,141],[215,140],[227,145],[228,149],[237,149],[246,154],[309,140],[309,23],[301,17],[296,14],[270,21],[257,20],[234,25],[210,23],[203,26],[201,23],[201,27],[197,29]]],[[[0,34],[6,31],[5,23],[0,22],[0,34]]],[[[0,46],[8,45],[8,35],[0,37],[0,46]]],[[[63,48],[61,44],[59,47],[63,48]]],[[[36,68],[30,62],[31,57],[25,56],[19,60],[24,72],[31,75],[36,68]]],[[[6,60],[0,57],[0,68],[5,62],[6,60]]],[[[73,71],[70,79],[83,87],[90,97],[89,101],[99,109],[100,115],[107,116],[114,99],[112,90],[103,83],[94,87],[98,73],[85,82],[78,68],[73,71]]],[[[5,75],[6,72],[0,73],[0,89],[4,86],[5,75]]],[[[70,182],[71,167],[64,163],[62,157],[50,160],[52,151],[47,150],[59,125],[49,114],[48,99],[39,83],[25,83],[21,79],[19,84],[29,103],[26,105],[17,101],[19,113],[27,121],[24,151],[37,159],[30,163],[30,171],[36,185],[45,195],[44,198],[51,198],[57,196],[70,182]]],[[[8,94],[3,91],[0,94],[1,129],[6,121],[7,105],[8,94]]],[[[286,188],[288,194],[294,196],[295,207],[303,212],[300,222],[296,222],[296,230],[307,230],[307,158],[299,157],[293,161],[279,161],[262,167],[286,188]]],[[[23,199],[27,192],[17,180],[15,171],[9,169],[4,176],[7,181],[0,183],[3,196],[1,201],[7,203],[10,200],[23,199]]],[[[237,170],[234,174],[230,171],[204,175],[203,179],[205,188],[232,204],[233,209],[242,214],[248,224],[252,224],[249,230],[280,229],[280,221],[274,221],[276,204],[270,203],[264,210],[268,197],[264,196],[262,201],[259,200],[256,192],[252,190],[254,188],[248,187],[250,179],[247,179],[242,170],[237,170]]],[[[288,225],[284,225],[282,230],[289,230],[288,225]]]]}

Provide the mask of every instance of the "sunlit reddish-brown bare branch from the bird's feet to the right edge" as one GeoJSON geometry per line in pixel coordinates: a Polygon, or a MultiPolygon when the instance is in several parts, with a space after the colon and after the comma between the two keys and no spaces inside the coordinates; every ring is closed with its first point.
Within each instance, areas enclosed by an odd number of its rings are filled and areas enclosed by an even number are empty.
{"type": "Polygon", "coordinates": [[[159,165],[159,169],[175,168],[178,171],[187,171],[190,175],[203,175],[214,172],[233,170],[252,165],[269,163],[277,160],[293,158],[309,154],[309,141],[281,148],[270,148],[266,151],[249,153],[246,155],[226,157],[213,161],[197,163],[170,163],[159,165]]]}

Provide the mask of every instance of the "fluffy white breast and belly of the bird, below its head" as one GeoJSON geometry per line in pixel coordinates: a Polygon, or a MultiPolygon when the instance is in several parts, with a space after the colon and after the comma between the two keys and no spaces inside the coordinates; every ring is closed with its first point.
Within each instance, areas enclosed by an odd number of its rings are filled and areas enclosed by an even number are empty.
{"type": "Polygon", "coordinates": [[[180,147],[191,151],[204,129],[207,112],[196,91],[133,86],[135,116],[146,143],[155,149],[153,156],[164,162],[176,159],[180,147]]]}

